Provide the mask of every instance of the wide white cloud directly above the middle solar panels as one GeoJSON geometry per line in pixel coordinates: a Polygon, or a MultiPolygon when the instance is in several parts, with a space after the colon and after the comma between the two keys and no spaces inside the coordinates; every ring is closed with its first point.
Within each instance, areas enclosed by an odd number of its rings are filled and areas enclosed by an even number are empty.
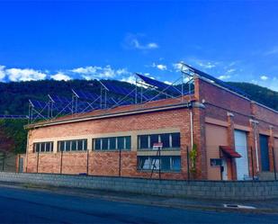
{"type": "Polygon", "coordinates": [[[113,69],[110,65],[106,67],[76,67],[70,70],[71,72],[80,74],[86,80],[99,79],[99,78],[113,78],[115,76],[127,75],[130,72],[127,68],[113,69]]]}

